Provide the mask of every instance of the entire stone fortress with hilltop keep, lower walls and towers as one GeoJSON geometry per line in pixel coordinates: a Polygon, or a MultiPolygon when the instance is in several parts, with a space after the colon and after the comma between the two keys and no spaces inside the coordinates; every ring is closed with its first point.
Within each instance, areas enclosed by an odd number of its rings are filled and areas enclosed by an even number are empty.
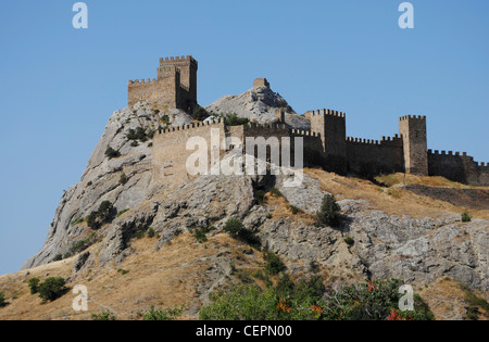
{"type": "MultiPolygon", "coordinates": [[[[198,63],[191,56],[160,60],[158,79],[128,84],[128,103],[147,101],[167,109],[191,113],[197,102],[198,63]]],[[[254,80],[253,87],[267,87],[265,78],[254,80]]],[[[249,123],[226,126],[223,119],[195,123],[156,131],[153,138],[153,175],[161,181],[184,182],[188,138],[200,136],[211,145],[211,129],[220,131],[221,139],[237,137],[303,138],[304,166],[323,167],[339,174],[363,177],[378,174],[406,173],[419,176],[443,176],[450,180],[489,186],[489,165],[477,163],[466,153],[431,151],[427,149],[426,116],[408,115],[399,118],[399,135],[367,140],[347,137],[346,114],[331,110],[309,111],[304,114],[310,130],[299,130],[285,123],[284,110],[276,110],[275,121],[268,125],[249,123]]],[[[215,131],[215,130],[214,130],[215,131]]],[[[256,154],[256,151],[244,151],[256,154]]],[[[291,156],[293,161],[293,156],[291,156]]]]}

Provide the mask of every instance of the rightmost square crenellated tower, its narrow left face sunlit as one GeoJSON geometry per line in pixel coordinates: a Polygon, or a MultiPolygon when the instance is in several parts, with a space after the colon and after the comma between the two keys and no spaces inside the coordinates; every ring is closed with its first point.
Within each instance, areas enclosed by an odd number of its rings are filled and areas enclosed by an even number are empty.
{"type": "Polygon", "coordinates": [[[399,132],[404,149],[405,173],[428,176],[426,116],[402,116],[399,118],[399,132]]]}

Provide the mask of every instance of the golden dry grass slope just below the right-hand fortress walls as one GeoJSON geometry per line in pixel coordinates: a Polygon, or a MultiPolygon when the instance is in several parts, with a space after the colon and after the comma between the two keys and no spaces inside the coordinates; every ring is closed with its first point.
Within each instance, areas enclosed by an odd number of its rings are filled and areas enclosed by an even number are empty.
{"type": "MultiPolygon", "coordinates": [[[[489,211],[475,211],[468,207],[454,206],[448,202],[435,200],[429,197],[418,195],[412,191],[403,189],[403,174],[384,176],[378,181],[391,183],[390,187],[381,187],[369,180],[341,177],[323,169],[306,168],[304,173],[317,179],[324,191],[334,193],[337,200],[352,199],[366,200],[375,210],[381,210],[388,215],[409,215],[415,218],[440,217],[443,212],[462,214],[467,212],[475,218],[489,219],[489,211]],[[401,181],[402,179],[402,181],[401,181]]],[[[408,185],[425,185],[432,187],[455,187],[460,189],[474,188],[454,183],[442,177],[418,177],[408,175],[408,185]]],[[[487,189],[479,188],[479,189],[487,189]]]]}

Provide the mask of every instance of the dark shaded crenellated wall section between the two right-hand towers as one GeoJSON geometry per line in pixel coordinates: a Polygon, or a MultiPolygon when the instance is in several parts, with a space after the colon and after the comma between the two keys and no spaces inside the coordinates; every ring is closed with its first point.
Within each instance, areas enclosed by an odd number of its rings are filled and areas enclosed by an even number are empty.
{"type": "Polygon", "coordinates": [[[403,172],[402,139],[397,137],[383,140],[347,138],[348,170],[358,175],[403,172]]]}

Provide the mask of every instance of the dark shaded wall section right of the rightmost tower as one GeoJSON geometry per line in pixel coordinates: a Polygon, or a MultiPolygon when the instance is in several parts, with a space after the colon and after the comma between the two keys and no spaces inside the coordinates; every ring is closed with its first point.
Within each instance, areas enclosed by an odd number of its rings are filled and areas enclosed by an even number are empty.
{"type": "Polygon", "coordinates": [[[428,173],[463,183],[489,186],[489,166],[475,162],[465,152],[428,150],[428,173]]]}

